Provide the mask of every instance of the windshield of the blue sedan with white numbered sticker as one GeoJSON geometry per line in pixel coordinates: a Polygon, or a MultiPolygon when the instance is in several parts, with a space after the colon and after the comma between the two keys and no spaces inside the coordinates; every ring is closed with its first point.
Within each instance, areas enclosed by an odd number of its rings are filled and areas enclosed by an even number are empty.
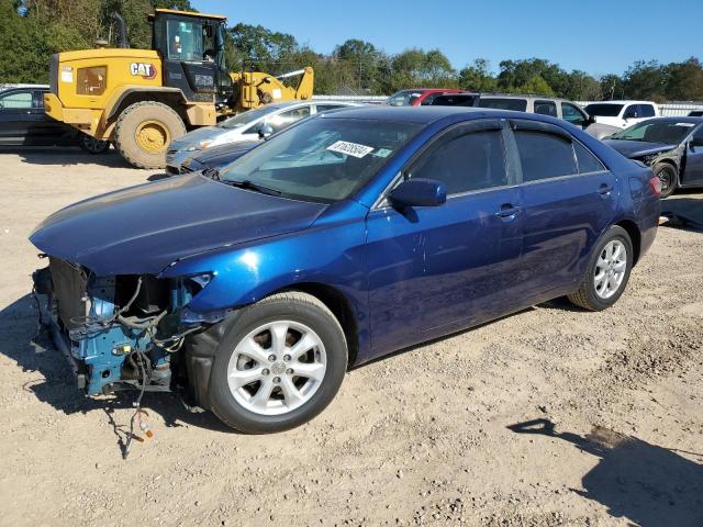
{"type": "Polygon", "coordinates": [[[366,184],[421,128],[405,122],[317,117],[259,145],[220,173],[311,201],[341,201],[366,184]]]}

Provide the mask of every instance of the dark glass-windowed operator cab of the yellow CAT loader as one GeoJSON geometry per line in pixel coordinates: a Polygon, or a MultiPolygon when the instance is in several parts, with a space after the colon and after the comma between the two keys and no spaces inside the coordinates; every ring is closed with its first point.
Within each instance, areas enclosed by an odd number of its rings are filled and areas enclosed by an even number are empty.
{"type": "Polygon", "coordinates": [[[226,19],[216,14],[157,9],[152,48],[164,60],[164,86],[179,88],[192,102],[226,99],[232,80],[224,64],[226,19]]]}

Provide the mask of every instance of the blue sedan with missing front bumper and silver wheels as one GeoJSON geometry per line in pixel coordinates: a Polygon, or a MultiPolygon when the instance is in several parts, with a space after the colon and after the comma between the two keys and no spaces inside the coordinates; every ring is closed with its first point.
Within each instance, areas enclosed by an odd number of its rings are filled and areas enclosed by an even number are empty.
{"type": "Polygon", "coordinates": [[[228,426],[278,431],[350,367],[557,296],[613,305],[660,191],[551,117],[345,110],[53,214],[35,288],[89,395],[187,385],[228,426]]]}

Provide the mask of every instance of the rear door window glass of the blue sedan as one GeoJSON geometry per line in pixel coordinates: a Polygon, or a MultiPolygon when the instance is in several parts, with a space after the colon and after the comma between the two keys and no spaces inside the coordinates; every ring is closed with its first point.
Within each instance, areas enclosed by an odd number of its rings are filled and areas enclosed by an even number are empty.
{"type": "Polygon", "coordinates": [[[570,143],[542,132],[516,130],[514,134],[524,182],[577,173],[570,143]]]}

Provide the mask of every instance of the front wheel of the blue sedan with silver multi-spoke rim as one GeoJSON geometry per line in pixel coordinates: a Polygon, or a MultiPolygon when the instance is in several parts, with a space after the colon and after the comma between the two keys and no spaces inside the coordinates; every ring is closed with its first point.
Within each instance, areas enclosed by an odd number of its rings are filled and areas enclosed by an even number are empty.
{"type": "Polygon", "coordinates": [[[212,411],[247,434],[282,431],[320,414],[339,390],[347,344],[316,298],[280,293],[242,310],[217,346],[212,411]]]}

